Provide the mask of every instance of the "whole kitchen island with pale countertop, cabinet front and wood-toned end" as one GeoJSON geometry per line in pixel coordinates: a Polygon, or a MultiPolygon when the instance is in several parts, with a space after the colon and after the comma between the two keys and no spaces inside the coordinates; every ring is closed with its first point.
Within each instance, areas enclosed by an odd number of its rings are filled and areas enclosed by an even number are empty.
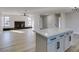
{"type": "Polygon", "coordinates": [[[36,52],[64,52],[71,46],[72,30],[44,29],[36,32],[36,52]]]}

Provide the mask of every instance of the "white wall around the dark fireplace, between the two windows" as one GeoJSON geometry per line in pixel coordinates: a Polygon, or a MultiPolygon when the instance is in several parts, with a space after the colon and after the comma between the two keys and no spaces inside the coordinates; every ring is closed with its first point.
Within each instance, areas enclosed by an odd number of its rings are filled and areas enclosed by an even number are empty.
{"type": "Polygon", "coordinates": [[[10,26],[7,28],[13,28],[15,21],[25,21],[25,27],[28,27],[28,19],[26,16],[18,16],[18,15],[7,15],[10,17],[10,26]]]}

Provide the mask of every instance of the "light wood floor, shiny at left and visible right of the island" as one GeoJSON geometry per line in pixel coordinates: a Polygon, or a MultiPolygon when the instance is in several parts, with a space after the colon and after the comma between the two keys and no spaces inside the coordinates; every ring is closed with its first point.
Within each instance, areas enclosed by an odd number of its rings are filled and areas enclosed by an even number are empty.
{"type": "MultiPolygon", "coordinates": [[[[0,52],[35,52],[35,41],[32,29],[4,31],[0,33],[0,52]]],[[[79,35],[73,36],[67,52],[79,52],[79,35]]]]}

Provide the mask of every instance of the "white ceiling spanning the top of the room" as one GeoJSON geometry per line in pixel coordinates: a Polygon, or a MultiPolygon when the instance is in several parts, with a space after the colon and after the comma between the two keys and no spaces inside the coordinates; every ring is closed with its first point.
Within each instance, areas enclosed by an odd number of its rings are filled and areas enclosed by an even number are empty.
{"type": "Polygon", "coordinates": [[[14,14],[22,15],[24,11],[27,13],[60,13],[60,12],[71,12],[70,7],[0,7],[0,12],[2,14],[14,14]]]}

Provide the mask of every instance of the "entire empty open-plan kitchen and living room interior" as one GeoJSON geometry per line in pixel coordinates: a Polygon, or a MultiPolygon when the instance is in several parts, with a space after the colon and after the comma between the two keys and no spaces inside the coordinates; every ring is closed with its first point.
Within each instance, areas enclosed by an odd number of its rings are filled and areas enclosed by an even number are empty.
{"type": "Polygon", "coordinates": [[[0,52],[79,52],[79,7],[0,7],[0,52]]]}

